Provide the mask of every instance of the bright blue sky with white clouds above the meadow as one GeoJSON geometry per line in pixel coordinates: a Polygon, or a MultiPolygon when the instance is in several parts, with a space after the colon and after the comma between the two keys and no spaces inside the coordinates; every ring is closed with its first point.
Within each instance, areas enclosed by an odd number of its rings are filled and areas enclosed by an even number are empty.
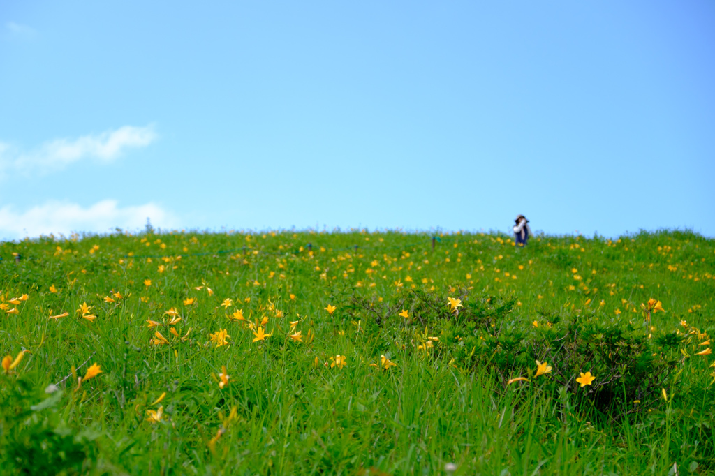
{"type": "Polygon", "coordinates": [[[715,236],[715,4],[5,1],[0,238],[715,236]]]}

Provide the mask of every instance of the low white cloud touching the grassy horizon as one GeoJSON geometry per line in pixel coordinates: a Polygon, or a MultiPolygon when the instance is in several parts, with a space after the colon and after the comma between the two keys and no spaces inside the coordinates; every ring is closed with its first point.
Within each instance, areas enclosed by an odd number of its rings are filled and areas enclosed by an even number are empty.
{"type": "Polygon", "coordinates": [[[41,234],[71,232],[112,232],[115,227],[143,229],[149,218],[154,227],[177,227],[177,219],[157,204],[118,207],[117,200],[102,200],[88,208],[78,204],[50,201],[18,213],[13,207],[0,208],[0,239],[39,237],[41,234]]]}

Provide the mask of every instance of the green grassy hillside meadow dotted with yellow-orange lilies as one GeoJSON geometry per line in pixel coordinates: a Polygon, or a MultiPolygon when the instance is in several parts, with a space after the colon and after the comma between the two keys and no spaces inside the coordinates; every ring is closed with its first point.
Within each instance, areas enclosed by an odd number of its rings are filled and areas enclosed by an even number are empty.
{"type": "Polygon", "coordinates": [[[0,244],[2,474],[715,472],[715,240],[0,244]]]}

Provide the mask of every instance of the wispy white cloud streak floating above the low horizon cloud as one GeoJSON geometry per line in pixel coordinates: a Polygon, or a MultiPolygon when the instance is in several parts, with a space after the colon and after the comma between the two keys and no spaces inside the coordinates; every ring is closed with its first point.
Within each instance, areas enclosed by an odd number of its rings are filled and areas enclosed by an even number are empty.
{"type": "Polygon", "coordinates": [[[156,139],[157,134],[150,124],[147,127],[124,126],[78,139],[55,139],[31,152],[22,152],[0,142],[0,176],[7,172],[54,172],[84,159],[112,162],[125,149],[147,147],[156,139]]]}

